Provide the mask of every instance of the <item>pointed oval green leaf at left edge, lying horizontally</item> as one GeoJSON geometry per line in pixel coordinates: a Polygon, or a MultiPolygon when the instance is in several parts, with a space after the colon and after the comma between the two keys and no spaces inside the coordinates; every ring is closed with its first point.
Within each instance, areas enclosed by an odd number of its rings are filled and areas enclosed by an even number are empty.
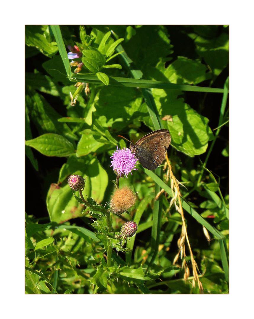
{"type": "Polygon", "coordinates": [[[44,134],[26,141],[26,145],[35,148],[46,156],[65,157],[75,152],[74,146],[65,137],[58,134],[44,134]]]}

